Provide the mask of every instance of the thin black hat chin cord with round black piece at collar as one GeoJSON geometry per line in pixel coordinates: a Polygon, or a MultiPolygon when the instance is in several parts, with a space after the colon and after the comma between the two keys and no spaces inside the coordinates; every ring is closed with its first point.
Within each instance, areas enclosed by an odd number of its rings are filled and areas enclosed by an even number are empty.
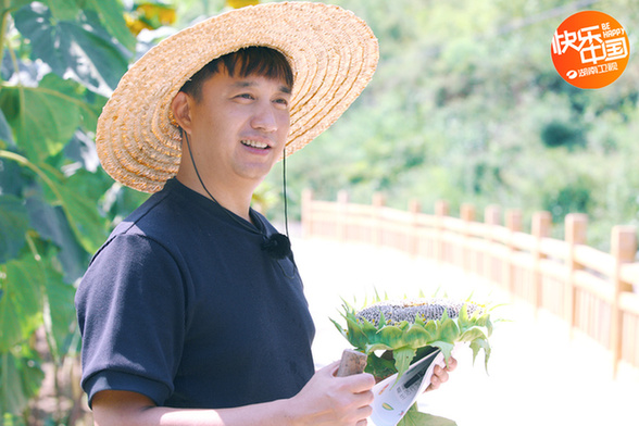
{"type": "MultiPolygon", "coordinates": [[[[235,214],[233,214],[231,212],[229,212],[224,205],[222,205],[220,202],[217,202],[217,200],[215,199],[215,197],[213,197],[213,195],[211,192],[209,192],[209,189],[206,188],[206,185],[204,185],[204,180],[202,180],[202,177],[200,176],[200,172],[198,171],[198,166],[196,165],[196,159],[193,158],[193,152],[191,151],[191,143],[189,141],[189,136],[186,131],[184,131],[184,129],[180,127],[180,131],[181,131],[181,137],[184,140],[186,140],[187,142],[187,148],[189,150],[189,156],[191,159],[191,164],[193,165],[193,170],[196,171],[196,176],[198,176],[198,180],[200,181],[200,185],[202,185],[202,188],[204,188],[204,191],[206,192],[206,195],[211,198],[211,200],[213,200],[217,205],[220,205],[222,208],[222,210],[235,222],[237,222],[238,224],[240,224],[242,227],[245,227],[246,229],[250,230],[251,233],[258,233],[262,236],[262,238],[264,239],[264,241],[262,242],[262,245],[260,246],[261,249],[263,251],[266,252],[266,254],[268,254],[268,256],[275,259],[275,260],[280,260],[284,258],[291,258],[292,260],[292,251],[290,249],[290,239],[288,237],[288,202],[287,202],[287,196],[286,196],[286,147],[284,148],[284,158],[283,158],[283,168],[284,168],[284,222],[285,222],[285,229],[286,229],[286,235],[279,234],[279,233],[275,233],[273,234],[271,237],[266,236],[266,234],[264,233],[264,230],[259,229],[258,227],[249,227],[247,226],[246,223],[241,222],[238,217],[236,217],[235,214]]],[[[261,222],[261,220],[255,216],[258,221],[261,222]]],[[[263,227],[263,224],[262,228],[263,227]]]]}

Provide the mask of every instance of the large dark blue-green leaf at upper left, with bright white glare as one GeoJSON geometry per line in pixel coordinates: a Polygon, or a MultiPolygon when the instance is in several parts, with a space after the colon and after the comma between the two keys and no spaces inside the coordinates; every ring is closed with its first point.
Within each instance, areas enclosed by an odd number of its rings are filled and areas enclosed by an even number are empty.
{"type": "Polygon", "coordinates": [[[127,70],[130,52],[113,41],[93,11],[78,10],[75,21],[58,21],[49,8],[34,2],[14,13],[14,20],[30,40],[33,60],[92,91],[108,97],[127,70]]]}

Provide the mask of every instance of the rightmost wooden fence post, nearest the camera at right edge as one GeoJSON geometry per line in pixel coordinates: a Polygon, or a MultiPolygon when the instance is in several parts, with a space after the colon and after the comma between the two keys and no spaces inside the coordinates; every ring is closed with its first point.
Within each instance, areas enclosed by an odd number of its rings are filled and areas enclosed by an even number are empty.
{"type": "Polygon", "coordinates": [[[623,311],[619,309],[619,298],[624,291],[632,291],[632,285],[624,283],[621,277],[622,264],[635,260],[637,253],[637,229],[634,226],[613,227],[611,238],[611,254],[614,259],[614,270],[611,276],[615,290],[611,317],[611,350],[613,354],[613,375],[616,377],[622,359],[622,336],[624,333],[623,311]]]}

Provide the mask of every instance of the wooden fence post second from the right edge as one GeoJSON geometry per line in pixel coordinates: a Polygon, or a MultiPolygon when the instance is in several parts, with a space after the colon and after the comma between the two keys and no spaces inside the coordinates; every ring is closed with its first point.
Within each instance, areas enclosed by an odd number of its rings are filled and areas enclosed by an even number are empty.
{"type": "Polygon", "coordinates": [[[566,253],[566,284],[564,287],[564,318],[569,324],[571,337],[575,327],[575,272],[582,266],[575,260],[575,247],[586,243],[586,227],[588,216],[582,213],[571,213],[565,218],[565,241],[567,243],[566,253]]]}

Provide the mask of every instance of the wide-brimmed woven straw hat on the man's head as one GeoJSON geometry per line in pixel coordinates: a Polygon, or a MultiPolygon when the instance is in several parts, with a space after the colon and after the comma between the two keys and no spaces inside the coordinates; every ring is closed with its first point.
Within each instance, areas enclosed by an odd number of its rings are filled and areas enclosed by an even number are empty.
{"type": "Polygon", "coordinates": [[[264,3],[196,24],[160,42],[122,77],[98,121],[96,143],[106,173],[143,192],[162,189],[181,158],[173,98],[206,63],[249,46],[274,48],[291,64],[287,155],[349,108],[379,55],[368,26],[336,5],[264,3]]]}

